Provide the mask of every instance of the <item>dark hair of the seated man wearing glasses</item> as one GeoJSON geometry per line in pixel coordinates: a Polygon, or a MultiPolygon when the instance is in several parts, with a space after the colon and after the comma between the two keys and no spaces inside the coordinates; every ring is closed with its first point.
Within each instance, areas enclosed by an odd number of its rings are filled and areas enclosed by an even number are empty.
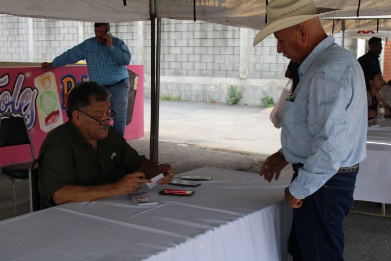
{"type": "Polygon", "coordinates": [[[82,82],[76,85],[68,96],[67,116],[72,119],[72,112],[89,106],[92,97],[95,97],[96,101],[104,101],[110,98],[110,93],[95,82],[82,82]]]}

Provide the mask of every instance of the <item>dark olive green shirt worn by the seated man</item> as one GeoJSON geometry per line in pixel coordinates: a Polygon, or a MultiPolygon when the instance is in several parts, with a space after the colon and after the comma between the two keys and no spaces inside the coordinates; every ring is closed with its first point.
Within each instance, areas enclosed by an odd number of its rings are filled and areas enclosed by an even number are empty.
{"type": "Polygon", "coordinates": [[[113,127],[98,140],[95,151],[69,120],[47,135],[39,151],[41,208],[54,206],[53,194],[67,185],[113,183],[136,171],[144,160],[113,127]]]}

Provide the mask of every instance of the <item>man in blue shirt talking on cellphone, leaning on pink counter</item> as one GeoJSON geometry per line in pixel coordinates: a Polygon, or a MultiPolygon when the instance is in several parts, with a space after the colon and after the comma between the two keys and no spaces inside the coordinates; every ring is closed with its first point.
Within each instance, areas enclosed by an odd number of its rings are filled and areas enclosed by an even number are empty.
{"type": "Polygon", "coordinates": [[[51,63],[42,63],[41,66],[47,70],[86,60],[90,81],[103,85],[111,94],[110,103],[113,111],[117,113],[113,126],[124,135],[129,92],[126,65],[130,63],[131,54],[124,41],[110,33],[109,23],[96,22],[94,28],[95,37],[65,51],[51,63]]]}

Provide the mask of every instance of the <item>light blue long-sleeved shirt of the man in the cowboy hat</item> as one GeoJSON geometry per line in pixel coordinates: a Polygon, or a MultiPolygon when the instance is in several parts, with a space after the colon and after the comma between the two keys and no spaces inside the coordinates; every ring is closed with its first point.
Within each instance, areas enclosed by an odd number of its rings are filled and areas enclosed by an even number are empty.
{"type": "Polygon", "coordinates": [[[285,102],[281,152],[289,163],[304,164],[289,185],[303,199],[340,167],[366,158],[367,95],[359,63],[332,36],[298,71],[300,83],[285,102]]]}

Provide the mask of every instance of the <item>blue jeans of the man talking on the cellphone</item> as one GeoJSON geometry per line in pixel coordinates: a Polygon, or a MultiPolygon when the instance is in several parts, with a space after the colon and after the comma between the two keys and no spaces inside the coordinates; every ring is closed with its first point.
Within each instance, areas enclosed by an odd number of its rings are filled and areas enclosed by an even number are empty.
{"type": "Polygon", "coordinates": [[[123,136],[125,133],[126,117],[128,115],[129,78],[124,79],[118,84],[106,87],[106,89],[111,93],[111,108],[117,113],[114,118],[113,127],[123,136]]]}

